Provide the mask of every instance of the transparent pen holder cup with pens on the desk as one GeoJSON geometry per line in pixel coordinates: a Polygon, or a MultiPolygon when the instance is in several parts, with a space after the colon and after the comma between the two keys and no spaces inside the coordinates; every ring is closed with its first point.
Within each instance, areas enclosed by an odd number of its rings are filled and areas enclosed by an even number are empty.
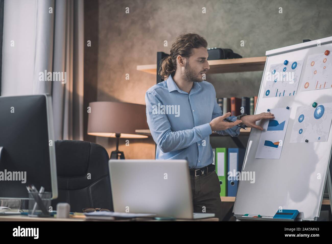
{"type": "Polygon", "coordinates": [[[51,196],[52,196],[51,192],[44,192],[44,193],[30,192],[29,193],[29,214],[28,214],[28,216],[30,216],[30,217],[48,217],[49,209],[50,209],[49,207],[51,206],[51,196]],[[38,196],[41,198],[41,202],[45,206],[47,214],[43,213],[41,210],[41,206],[39,206],[36,203],[35,198],[38,196]]]}

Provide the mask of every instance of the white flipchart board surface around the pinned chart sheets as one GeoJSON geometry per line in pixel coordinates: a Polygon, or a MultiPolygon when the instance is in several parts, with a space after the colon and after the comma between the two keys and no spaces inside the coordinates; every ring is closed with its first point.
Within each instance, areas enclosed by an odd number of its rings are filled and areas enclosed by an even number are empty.
{"type": "MultiPolygon", "coordinates": [[[[267,109],[271,109],[273,113],[274,108],[286,109],[288,106],[290,117],[280,159],[255,158],[262,132],[257,129],[251,130],[242,171],[255,172],[255,183],[243,180],[239,182],[233,208],[235,216],[246,213],[274,216],[280,207],[299,210],[298,217],[301,219],[314,220],[319,216],[331,157],[332,127],[325,142],[290,143],[290,135],[294,121],[298,119],[295,118],[298,106],[312,106],[314,102],[318,105],[332,102],[332,88],[301,91],[308,80],[304,75],[306,66],[310,65],[307,64],[308,56],[324,54],[325,50],[331,51],[326,56],[328,61],[331,61],[332,37],[266,52],[267,60],[255,114],[267,112],[267,109]],[[303,60],[296,94],[283,96],[282,93],[280,97],[277,91],[277,96],[273,94],[274,97],[264,98],[268,87],[266,72],[271,65],[284,63],[285,60],[303,60]]],[[[329,85],[332,87],[332,76],[329,77],[329,85]]],[[[261,126],[263,123],[257,122],[261,126]]]]}

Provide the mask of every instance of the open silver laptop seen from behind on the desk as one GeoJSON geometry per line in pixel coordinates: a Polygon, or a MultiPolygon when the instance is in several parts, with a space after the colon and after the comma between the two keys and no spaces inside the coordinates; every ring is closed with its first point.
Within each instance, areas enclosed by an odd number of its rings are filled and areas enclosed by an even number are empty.
{"type": "Polygon", "coordinates": [[[193,213],[187,160],[109,160],[115,212],[154,213],[159,217],[197,219],[193,213]]]}

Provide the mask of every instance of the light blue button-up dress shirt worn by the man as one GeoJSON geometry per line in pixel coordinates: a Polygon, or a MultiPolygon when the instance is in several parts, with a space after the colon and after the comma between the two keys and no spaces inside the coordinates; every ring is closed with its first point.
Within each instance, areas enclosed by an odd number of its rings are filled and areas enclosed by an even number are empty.
{"type": "MultiPolygon", "coordinates": [[[[209,122],[221,116],[221,108],[211,83],[194,82],[188,94],[178,88],[170,75],[147,90],[145,103],[147,123],[157,144],[156,159],[185,159],[190,168],[213,163],[209,122]]],[[[235,116],[228,119],[236,121],[235,116]]],[[[216,132],[238,136],[240,127],[216,132]]]]}

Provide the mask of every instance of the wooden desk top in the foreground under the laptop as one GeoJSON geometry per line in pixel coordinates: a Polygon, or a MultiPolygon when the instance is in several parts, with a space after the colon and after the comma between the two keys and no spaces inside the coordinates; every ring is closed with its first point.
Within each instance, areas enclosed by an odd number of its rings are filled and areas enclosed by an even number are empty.
{"type": "MultiPolygon", "coordinates": [[[[218,221],[218,218],[203,218],[203,219],[177,219],[175,221],[218,221]]],[[[29,217],[27,215],[10,215],[4,216],[0,215],[0,221],[105,221],[105,220],[86,220],[85,216],[82,218],[70,217],[70,218],[37,218],[29,217]]],[[[129,219],[117,219],[110,221],[129,221],[129,219]]],[[[148,218],[136,218],[135,221],[165,221],[165,220],[156,220],[148,218]]]]}

